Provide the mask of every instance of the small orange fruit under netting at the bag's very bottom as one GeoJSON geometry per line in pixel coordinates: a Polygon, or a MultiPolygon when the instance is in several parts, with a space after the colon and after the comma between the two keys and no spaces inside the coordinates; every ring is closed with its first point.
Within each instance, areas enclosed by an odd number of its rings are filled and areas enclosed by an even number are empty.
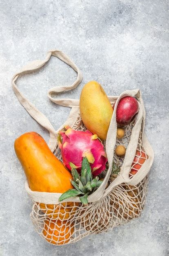
{"type": "Polygon", "coordinates": [[[69,222],[45,220],[42,234],[49,243],[62,245],[70,241],[73,232],[74,226],[69,222]]]}

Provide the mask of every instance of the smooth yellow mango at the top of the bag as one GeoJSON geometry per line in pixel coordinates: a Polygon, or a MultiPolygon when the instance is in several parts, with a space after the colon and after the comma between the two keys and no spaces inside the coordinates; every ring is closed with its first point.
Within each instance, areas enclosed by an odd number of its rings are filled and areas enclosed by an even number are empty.
{"type": "Polygon", "coordinates": [[[100,139],[106,139],[113,114],[111,103],[96,81],[87,83],[80,95],[80,115],[86,128],[100,139]]]}

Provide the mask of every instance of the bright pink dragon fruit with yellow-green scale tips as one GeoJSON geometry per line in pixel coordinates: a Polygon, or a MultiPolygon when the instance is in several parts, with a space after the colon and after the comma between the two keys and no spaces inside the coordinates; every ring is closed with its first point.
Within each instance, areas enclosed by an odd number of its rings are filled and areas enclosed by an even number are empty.
{"type": "Polygon", "coordinates": [[[58,144],[61,150],[63,164],[71,170],[69,163],[73,163],[78,171],[82,167],[83,157],[87,157],[90,163],[93,176],[100,174],[106,168],[107,157],[104,147],[98,136],[89,130],[76,131],[69,126],[65,127],[65,132],[60,131],[58,144]]]}

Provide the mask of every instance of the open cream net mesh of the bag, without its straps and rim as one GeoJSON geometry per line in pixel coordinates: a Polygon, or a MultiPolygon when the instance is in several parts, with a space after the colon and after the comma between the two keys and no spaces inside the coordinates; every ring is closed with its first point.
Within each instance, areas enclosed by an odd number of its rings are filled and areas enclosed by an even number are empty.
{"type": "MultiPolygon", "coordinates": [[[[125,126],[125,136],[116,140],[116,146],[124,145],[127,148],[135,119],[125,126]]],[[[75,130],[86,130],[80,114],[76,124],[72,127],[75,130]]],[[[56,147],[56,156],[61,159],[60,150],[56,147]]],[[[142,131],[140,131],[136,157],[133,159],[131,173],[139,171],[141,165],[148,159],[142,147],[142,131]]],[[[122,166],[124,157],[114,154],[113,161],[122,166]]],[[[104,174],[104,173],[103,173],[104,174]]],[[[106,174],[106,173],[105,173],[106,174]]],[[[115,180],[117,175],[110,175],[109,184],[115,180]]],[[[54,245],[75,243],[88,236],[109,231],[118,225],[125,224],[131,219],[140,216],[143,209],[147,192],[147,177],[136,186],[120,184],[115,186],[101,200],[89,203],[87,206],[79,202],[64,202],[60,204],[42,204],[33,202],[31,219],[33,225],[47,242],[54,245]]]]}

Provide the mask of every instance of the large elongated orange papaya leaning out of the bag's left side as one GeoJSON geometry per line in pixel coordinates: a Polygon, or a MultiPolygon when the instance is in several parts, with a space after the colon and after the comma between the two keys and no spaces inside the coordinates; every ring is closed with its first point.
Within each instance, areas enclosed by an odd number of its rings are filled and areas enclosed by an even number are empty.
{"type": "MultiPolygon", "coordinates": [[[[32,191],[64,193],[73,188],[70,182],[71,173],[53,155],[47,143],[38,133],[24,133],[16,139],[14,148],[32,191]]],[[[60,206],[59,204],[40,203],[39,207],[49,218],[63,220],[74,213],[75,205],[73,202],[66,202],[60,206]]]]}

